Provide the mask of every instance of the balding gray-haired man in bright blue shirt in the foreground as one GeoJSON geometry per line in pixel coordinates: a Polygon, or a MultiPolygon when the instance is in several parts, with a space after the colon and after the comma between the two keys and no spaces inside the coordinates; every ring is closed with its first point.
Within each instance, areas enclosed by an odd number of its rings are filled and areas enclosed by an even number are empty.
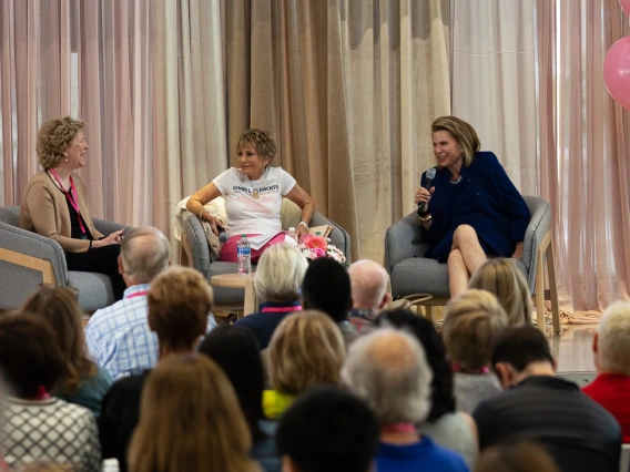
{"type": "Polygon", "coordinates": [[[421,346],[406,332],[380,328],[350,346],[342,378],[380,424],[378,472],[468,470],[459,454],[416,430],[430,411],[431,377],[421,346]]]}

